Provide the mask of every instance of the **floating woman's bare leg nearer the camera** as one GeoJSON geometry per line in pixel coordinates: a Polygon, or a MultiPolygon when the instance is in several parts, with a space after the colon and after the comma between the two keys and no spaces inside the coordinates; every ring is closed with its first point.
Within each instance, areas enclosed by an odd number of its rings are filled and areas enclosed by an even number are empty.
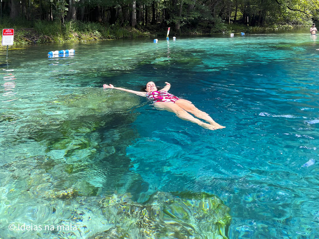
{"type": "Polygon", "coordinates": [[[173,113],[176,114],[176,116],[178,118],[181,118],[182,120],[187,120],[187,121],[196,123],[199,126],[204,127],[206,129],[211,129],[211,130],[218,129],[214,125],[206,124],[206,123],[196,119],[194,116],[192,116],[191,114],[189,114],[185,110],[183,110],[179,105],[176,105],[174,103],[171,103],[171,102],[155,102],[154,106],[156,108],[158,108],[158,109],[161,109],[161,110],[167,110],[167,111],[173,112],[173,113]]]}

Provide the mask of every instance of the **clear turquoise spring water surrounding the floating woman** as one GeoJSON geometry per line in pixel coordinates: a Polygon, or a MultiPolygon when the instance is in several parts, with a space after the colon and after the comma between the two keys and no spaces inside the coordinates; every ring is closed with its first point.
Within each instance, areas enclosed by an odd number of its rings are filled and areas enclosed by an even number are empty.
{"type": "Polygon", "coordinates": [[[39,45],[9,51],[8,63],[1,50],[0,237],[89,238],[108,229],[95,198],[205,192],[229,207],[229,238],[319,238],[318,48],[302,29],[39,45]],[[101,88],[150,80],[226,128],[101,88]],[[8,230],[75,215],[81,235],[8,230]]]}

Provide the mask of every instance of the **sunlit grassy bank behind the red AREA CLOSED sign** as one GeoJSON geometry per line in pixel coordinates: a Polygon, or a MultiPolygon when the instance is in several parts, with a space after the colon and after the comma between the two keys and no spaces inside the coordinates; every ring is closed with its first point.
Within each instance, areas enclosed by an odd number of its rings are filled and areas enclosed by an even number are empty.
{"type": "MultiPolygon", "coordinates": [[[[150,37],[151,34],[142,29],[103,25],[94,22],[70,21],[12,21],[3,19],[0,27],[13,28],[14,45],[51,42],[79,42],[89,40],[109,40],[121,38],[150,37]]],[[[0,40],[2,35],[0,35],[0,40]]]]}

